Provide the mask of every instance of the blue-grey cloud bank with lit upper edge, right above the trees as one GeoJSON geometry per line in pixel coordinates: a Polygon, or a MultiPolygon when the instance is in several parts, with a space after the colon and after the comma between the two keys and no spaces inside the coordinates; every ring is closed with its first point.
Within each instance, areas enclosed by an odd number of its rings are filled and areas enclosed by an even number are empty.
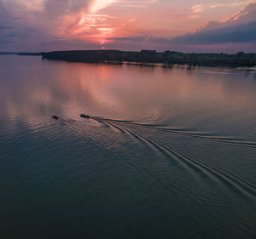
{"type": "MultiPolygon", "coordinates": [[[[200,9],[198,7],[198,9],[200,9]]],[[[198,10],[196,10],[198,11],[198,10]]],[[[230,18],[209,21],[194,32],[179,37],[114,37],[112,40],[131,43],[162,43],[166,48],[186,45],[211,45],[225,43],[256,43],[256,3],[249,3],[230,18]]],[[[234,45],[233,45],[234,46],[234,45]]],[[[240,45],[241,47],[241,45],[240,45]]],[[[256,50],[256,48],[252,48],[256,50]]]]}

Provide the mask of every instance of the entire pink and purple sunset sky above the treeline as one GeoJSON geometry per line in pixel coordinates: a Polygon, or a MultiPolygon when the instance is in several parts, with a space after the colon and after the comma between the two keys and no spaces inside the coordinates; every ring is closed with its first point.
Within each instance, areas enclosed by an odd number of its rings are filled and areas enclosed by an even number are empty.
{"type": "Polygon", "coordinates": [[[256,52],[256,0],[0,0],[0,51],[256,52]]]}

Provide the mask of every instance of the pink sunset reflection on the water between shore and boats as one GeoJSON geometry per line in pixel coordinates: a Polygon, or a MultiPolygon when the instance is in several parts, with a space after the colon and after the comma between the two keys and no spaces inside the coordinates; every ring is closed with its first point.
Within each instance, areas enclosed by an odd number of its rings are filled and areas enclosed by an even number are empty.
{"type": "MultiPolygon", "coordinates": [[[[99,117],[174,124],[183,117],[183,123],[192,125],[212,113],[225,118],[232,111],[246,111],[249,117],[256,102],[251,71],[37,60],[34,68],[19,67],[15,83],[1,81],[1,109],[7,117],[32,123],[42,122],[42,115],[49,113],[76,118],[86,111],[99,117]]],[[[12,75],[7,71],[3,77],[12,75]]]]}

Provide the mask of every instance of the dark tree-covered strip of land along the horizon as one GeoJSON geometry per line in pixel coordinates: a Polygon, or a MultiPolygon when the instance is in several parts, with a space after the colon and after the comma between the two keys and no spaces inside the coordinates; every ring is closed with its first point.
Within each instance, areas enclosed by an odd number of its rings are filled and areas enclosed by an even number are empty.
{"type": "Polygon", "coordinates": [[[156,52],[154,50],[119,51],[119,50],[76,50],[54,51],[42,54],[43,59],[65,60],[86,63],[122,63],[163,65],[208,65],[208,66],[254,66],[256,54],[238,52],[236,54],[184,54],[175,51],[156,52]]]}

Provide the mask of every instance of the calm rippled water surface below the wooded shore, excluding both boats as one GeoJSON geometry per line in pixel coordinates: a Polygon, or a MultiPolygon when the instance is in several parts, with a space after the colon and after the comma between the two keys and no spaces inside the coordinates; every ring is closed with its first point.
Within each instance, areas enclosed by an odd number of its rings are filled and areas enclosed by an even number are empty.
{"type": "Polygon", "coordinates": [[[1,56],[0,74],[1,239],[256,238],[255,69],[1,56]]]}

